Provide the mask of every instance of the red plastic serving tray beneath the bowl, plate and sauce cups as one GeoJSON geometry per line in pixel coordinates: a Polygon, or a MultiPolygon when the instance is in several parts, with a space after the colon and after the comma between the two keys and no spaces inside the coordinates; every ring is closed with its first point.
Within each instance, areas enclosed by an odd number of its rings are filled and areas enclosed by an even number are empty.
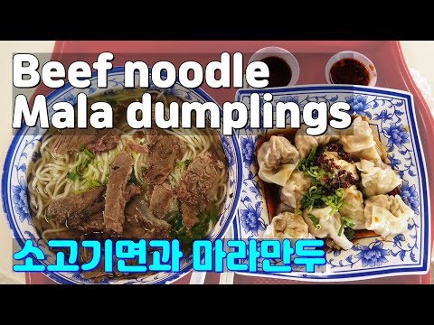
{"type": "MultiPolygon", "coordinates": [[[[302,84],[324,84],[325,63],[337,51],[360,51],[368,58],[373,60],[378,73],[376,86],[384,88],[395,88],[410,91],[414,97],[418,125],[420,128],[420,138],[425,149],[425,161],[427,170],[434,167],[434,151],[429,151],[429,139],[434,138],[434,118],[429,111],[429,107],[422,97],[419,88],[416,87],[414,80],[405,64],[399,42],[198,42],[198,41],[143,41],[143,42],[56,42],[52,52],[52,60],[60,60],[65,64],[71,60],[86,60],[93,62],[98,53],[111,51],[115,54],[114,66],[120,66],[126,60],[146,60],[151,65],[154,60],[170,59],[175,65],[179,65],[184,60],[197,60],[208,62],[209,60],[219,59],[222,51],[241,51],[244,53],[244,63],[246,64],[251,53],[267,46],[279,46],[291,51],[300,65],[300,77],[297,85],[302,84]],[[73,55],[69,55],[73,54],[73,55]],[[146,54],[146,55],[144,55],[146,54]],[[151,59],[150,59],[151,58],[151,59]],[[150,59],[150,60],[149,60],[150,59]]],[[[236,89],[222,88],[213,89],[203,85],[212,98],[222,104],[225,101],[233,101],[236,89]]],[[[41,85],[36,93],[48,94],[52,89],[41,85]]],[[[434,173],[429,173],[429,183],[434,184],[434,173]]],[[[434,196],[430,196],[431,211],[434,209],[434,196]]],[[[432,215],[432,213],[431,213],[432,215]]],[[[431,233],[434,234],[434,222],[431,226],[431,233]]],[[[432,246],[432,243],[431,243],[432,246]]],[[[190,275],[176,283],[188,283],[190,275]]],[[[218,283],[218,274],[208,274],[205,283],[218,283]]],[[[27,283],[51,283],[52,281],[43,274],[27,274],[27,283]]],[[[260,278],[255,276],[245,276],[235,274],[234,283],[299,283],[297,281],[260,278]]],[[[372,280],[357,281],[355,283],[430,283],[430,274],[425,275],[402,275],[377,278],[372,280]]]]}

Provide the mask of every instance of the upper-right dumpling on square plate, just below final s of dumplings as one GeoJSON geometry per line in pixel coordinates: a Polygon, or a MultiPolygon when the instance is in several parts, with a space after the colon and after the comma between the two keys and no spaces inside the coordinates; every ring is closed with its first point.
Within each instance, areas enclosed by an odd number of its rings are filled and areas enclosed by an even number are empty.
{"type": "Polygon", "coordinates": [[[353,121],[353,135],[342,135],[340,141],[344,145],[344,151],[354,158],[359,160],[364,158],[374,162],[381,160],[373,130],[360,116],[353,121]]]}

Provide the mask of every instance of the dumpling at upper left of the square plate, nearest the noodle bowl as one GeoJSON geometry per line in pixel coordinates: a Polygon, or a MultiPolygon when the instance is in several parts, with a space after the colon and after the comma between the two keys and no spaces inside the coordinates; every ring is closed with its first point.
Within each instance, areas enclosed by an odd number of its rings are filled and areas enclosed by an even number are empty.
{"type": "Polygon", "coordinates": [[[272,135],[260,146],[258,163],[262,181],[284,186],[299,163],[299,154],[287,138],[272,135]]]}

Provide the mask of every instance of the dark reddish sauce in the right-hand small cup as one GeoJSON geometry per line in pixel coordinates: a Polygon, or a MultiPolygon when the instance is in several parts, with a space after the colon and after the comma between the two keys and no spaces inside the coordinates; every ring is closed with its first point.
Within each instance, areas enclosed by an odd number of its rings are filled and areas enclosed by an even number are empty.
{"type": "Polygon", "coordinates": [[[334,84],[368,86],[370,76],[369,71],[359,60],[342,59],[332,66],[330,80],[334,84]]]}

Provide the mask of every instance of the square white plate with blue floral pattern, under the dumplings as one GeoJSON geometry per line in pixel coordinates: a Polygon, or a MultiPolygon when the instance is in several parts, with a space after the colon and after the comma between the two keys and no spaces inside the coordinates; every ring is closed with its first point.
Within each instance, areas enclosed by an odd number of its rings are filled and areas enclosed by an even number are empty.
{"type": "MultiPolygon", "coordinates": [[[[236,100],[249,105],[251,92],[251,89],[239,90],[236,100]]],[[[429,190],[410,93],[385,88],[318,85],[262,89],[259,96],[262,98],[266,92],[273,95],[273,103],[292,101],[300,107],[310,101],[325,102],[328,107],[336,101],[346,102],[352,114],[369,118],[373,131],[387,150],[392,168],[403,179],[402,200],[413,209],[415,216],[410,219],[408,231],[390,241],[382,237],[365,237],[358,239],[348,251],[327,252],[325,267],[319,268],[315,274],[297,268],[288,274],[264,274],[259,268],[258,275],[334,281],[427,273],[430,258],[429,190]]],[[[235,238],[261,238],[273,217],[269,215],[264,200],[264,189],[254,158],[259,135],[264,135],[264,132],[247,129],[244,135],[240,135],[243,187],[233,224],[235,238]]]]}

